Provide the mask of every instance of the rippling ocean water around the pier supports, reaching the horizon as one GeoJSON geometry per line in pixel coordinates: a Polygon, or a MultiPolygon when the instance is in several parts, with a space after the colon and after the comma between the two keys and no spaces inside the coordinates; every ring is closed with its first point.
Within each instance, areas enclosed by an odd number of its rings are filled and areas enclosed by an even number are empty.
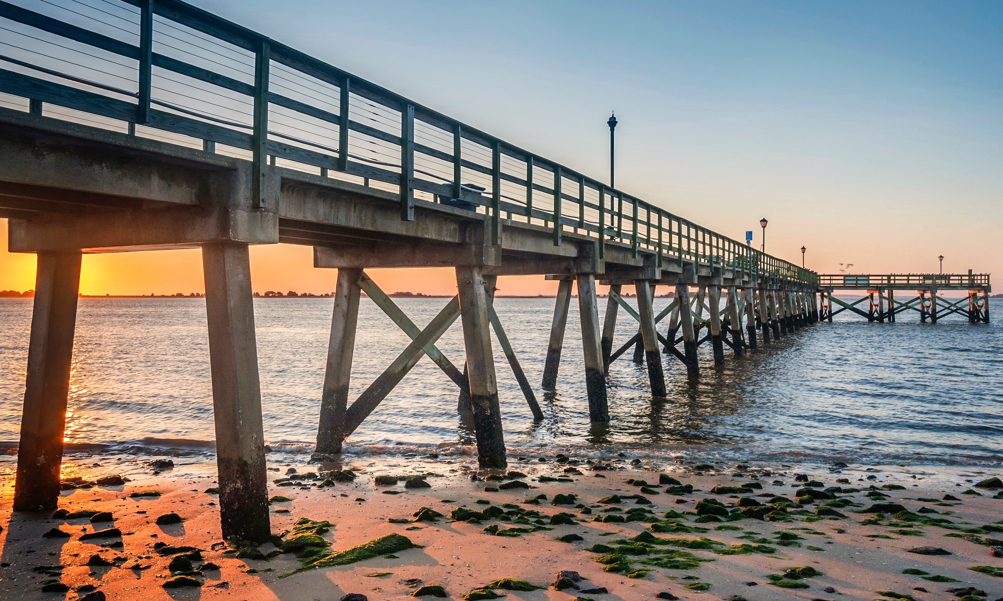
{"type": "MultiPolygon", "coordinates": [[[[305,456],[316,437],[332,298],[256,298],[265,439],[272,454],[305,456]]],[[[419,327],[446,298],[400,298],[419,327]]],[[[668,300],[657,299],[656,311],[668,300]]],[[[605,310],[605,299],[601,303],[605,310]]],[[[1003,303],[990,302],[994,316],[1003,303]]],[[[742,462],[1003,466],[1003,338],[998,321],[918,314],[868,324],[846,313],[715,370],[701,347],[697,384],[663,356],[668,398],[653,400],[646,368],[628,352],[611,368],[612,421],[588,420],[573,300],[558,391],[539,388],[553,298],[505,298],[495,309],[546,419],[534,423],[501,350],[495,369],[513,455],[609,454],[742,462]]],[[[24,391],[30,298],[0,298],[0,474],[14,468],[24,391]]],[[[666,324],[661,326],[664,331],[666,324]]],[[[636,323],[620,312],[618,347],[636,323]]],[[[352,397],[408,344],[361,302],[352,397]]],[[[457,321],[438,343],[462,369],[457,321]]],[[[725,349],[727,352],[727,348],[725,349]]],[[[347,441],[360,455],[472,453],[455,386],[423,358],[347,441]]],[[[94,454],[174,455],[212,462],[214,423],[204,298],[81,298],[67,415],[67,461],[94,454]]],[[[302,459],[302,458],[301,458],[302,459]]],[[[271,459],[270,459],[271,461],[271,459]]]]}

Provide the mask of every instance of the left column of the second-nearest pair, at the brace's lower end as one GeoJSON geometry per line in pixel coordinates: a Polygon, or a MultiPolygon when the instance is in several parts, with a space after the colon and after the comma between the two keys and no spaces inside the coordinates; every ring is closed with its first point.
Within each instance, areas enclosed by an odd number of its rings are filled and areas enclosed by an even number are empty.
{"type": "Polygon", "coordinates": [[[322,455],[341,453],[341,443],[345,440],[345,411],[348,409],[348,385],[359,318],[361,276],[362,269],[338,269],[324,392],[320,401],[320,425],[317,427],[317,453],[322,455]]]}

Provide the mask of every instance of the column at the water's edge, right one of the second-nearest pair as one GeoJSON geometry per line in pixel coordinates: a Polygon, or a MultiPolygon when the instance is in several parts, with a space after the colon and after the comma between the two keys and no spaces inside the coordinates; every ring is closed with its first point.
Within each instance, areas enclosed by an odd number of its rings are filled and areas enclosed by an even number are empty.
{"type": "Polygon", "coordinates": [[[463,324],[473,428],[477,439],[477,463],[481,469],[506,468],[509,462],[505,457],[501,410],[494,376],[494,356],[491,353],[487,292],[484,290],[480,267],[457,266],[456,284],[459,289],[459,312],[463,324]]]}

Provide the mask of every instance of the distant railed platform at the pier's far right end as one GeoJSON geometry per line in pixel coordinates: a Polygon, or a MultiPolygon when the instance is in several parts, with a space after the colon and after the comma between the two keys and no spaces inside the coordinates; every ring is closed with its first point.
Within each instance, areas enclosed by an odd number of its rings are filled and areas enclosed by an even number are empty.
{"type": "Polygon", "coordinates": [[[896,316],[915,311],[920,322],[936,324],[938,320],[960,314],[970,324],[989,323],[989,273],[890,273],[861,275],[818,275],[821,295],[820,317],[831,322],[833,316],[845,311],[866,318],[871,323],[895,323],[896,316]],[[864,290],[867,295],[847,303],[832,295],[835,290],[864,290]],[[896,290],[915,291],[916,295],[902,302],[895,297],[896,290]],[[939,295],[944,290],[966,290],[965,300],[954,302],[939,295]],[[839,309],[833,309],[832,304],[839,309]],[[861,309],[867,303],[867,311],[861,309]],[[860,306],[860,307],[859,307],[860,306]]]}

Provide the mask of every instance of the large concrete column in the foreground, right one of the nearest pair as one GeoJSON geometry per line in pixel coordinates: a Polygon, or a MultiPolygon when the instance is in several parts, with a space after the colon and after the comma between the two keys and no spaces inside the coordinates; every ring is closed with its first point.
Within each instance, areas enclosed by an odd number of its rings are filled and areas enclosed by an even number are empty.
{"type": "Polygon", "coordinates": [[[202,262],[223,538],[264,543],[271,531],[248,245],[204,244],[202,262]]]}

